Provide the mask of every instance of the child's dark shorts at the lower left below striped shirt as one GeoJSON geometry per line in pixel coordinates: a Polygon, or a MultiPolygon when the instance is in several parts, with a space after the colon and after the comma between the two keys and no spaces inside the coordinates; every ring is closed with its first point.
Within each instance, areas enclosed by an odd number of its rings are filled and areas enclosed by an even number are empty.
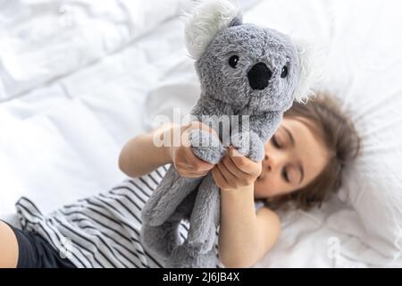
{"type": "MultiPolygon", "coordinates": [[[[7,223],[8,224],[8,223],[7,223]]],[[[76,268],[38,233],[20,231],[8,224],[18,241],[17,268],[76,268]]]]}

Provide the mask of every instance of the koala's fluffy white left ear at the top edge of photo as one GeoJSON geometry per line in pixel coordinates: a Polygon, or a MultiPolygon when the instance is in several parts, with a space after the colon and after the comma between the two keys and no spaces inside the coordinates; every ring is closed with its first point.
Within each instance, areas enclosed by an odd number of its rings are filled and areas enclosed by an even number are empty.
{"type": "Polygon", "coordinates": [[[218,31],[242,23],[239,7],[228,0],[202,1],[185,17],[188,54],[196,60],[204,54],[218,31]]]}

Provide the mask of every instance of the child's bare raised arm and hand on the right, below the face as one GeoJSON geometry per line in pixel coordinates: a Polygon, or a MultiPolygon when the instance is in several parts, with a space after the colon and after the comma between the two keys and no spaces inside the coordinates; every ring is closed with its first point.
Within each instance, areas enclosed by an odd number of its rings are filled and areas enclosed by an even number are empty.
{"type": "Polygon", "coordinates": [[[212,172],[221,189],[220,259],[226,267],[250,267],[272,248],[281,230],[278,215],[268,208],[255,214],[254,181],[261,163],[230,148],[212,172]]]}

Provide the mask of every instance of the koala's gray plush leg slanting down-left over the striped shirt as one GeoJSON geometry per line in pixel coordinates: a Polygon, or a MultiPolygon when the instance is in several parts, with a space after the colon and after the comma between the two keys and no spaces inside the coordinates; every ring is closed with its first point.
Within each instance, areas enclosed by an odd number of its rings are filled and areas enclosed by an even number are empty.
{"type": "Polygon", "coordinates": [[[183,178],[171,166],[142,209],[143,223],[149,226],[162,225],[174,213],[181,201],[192,190],[197,189],[202,179],[183,178]]]}

